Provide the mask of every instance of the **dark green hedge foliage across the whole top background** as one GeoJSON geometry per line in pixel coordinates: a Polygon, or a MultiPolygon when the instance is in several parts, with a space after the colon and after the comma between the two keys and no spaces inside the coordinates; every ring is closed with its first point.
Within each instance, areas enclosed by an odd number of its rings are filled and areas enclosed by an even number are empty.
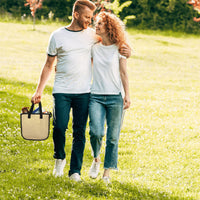
{"type": "MultiPolygon", "coordinates": [[[[182,31],[186,33],[200,33],[199,23],[195,23],[193,19],[199,18],[199,13],[194,10],[192,6],[187,4],[188,0],[107,0],[107,3],[119,6],[116,13],[122,20],[127,20],[127,26],[137,27],[139,29],[152,30],[173,30],[182,31]],[[122,5],[124,7],[122,11],[122,5]],[[130,2],[132,2],[130,4],[130,2]],[[124,4],[125,3],[125,4],[124,4]],[[133,16],[134,19],[127,16],[133,16]]],[[[106,0],[98,0],[98,2],[106,2],[106,0]]],[[[52,11],[54,14],[52,20],[69,21],[72,14],[72,6],[74,0],[45,0],[41,9],[37,10],[37,18],[47,20],[48,14],[52,11]]],[[[107,4],[106,3],[106,4],[107,4]]],[[[115,6],[116,8],[116,6],[115,6]]],[[[30,16],[28,7],[24,7],[24,0],[1,0],[0,1],[0,15],[12,15],[15,18],[21,19],[24,16],[26,20],[30,16]]]]}

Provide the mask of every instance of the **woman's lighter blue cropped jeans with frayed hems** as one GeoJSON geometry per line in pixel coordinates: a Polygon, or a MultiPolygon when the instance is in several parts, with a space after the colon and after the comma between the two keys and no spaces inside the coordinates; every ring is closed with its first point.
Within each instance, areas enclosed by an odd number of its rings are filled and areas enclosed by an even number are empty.
{"type": "Polygon", "coordinates": [[[123,99],[119,95],[90,95],[90,143],[94,158],[100,154],[104,125],[107,122],[104,168],[117,169],[118,141],[120,134],[123,99]]]}

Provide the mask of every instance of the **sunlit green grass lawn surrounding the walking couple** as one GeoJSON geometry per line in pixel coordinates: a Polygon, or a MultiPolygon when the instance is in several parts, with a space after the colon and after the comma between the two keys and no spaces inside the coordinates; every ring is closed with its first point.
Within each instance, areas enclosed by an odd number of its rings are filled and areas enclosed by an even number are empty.
{"type": "MultiPolygon", "coordinates": [[[[0,199],[200,199],[200,38],[129,29],[131,108],[119,144],[112,185],[88,177],[87,143],[82,183],[67,173],[72,129],[66,133],[65,176],[54,178],[52,131],[46,141],[23,140],[21,108],[30,106],[50,33],[60,25],[0,23],[0,199]]],[[[52,110],[54,74],[43,95],[52,110]]],[[[51,127],[52,129],[52,127],[51,127]]],[[[105,142],[104,142],[105,145],[105,142]]],[[[104,146],[103,146],[104,147],[104,146]]],[[[102,161],[104,148],[102,148],[102,161]]]]}

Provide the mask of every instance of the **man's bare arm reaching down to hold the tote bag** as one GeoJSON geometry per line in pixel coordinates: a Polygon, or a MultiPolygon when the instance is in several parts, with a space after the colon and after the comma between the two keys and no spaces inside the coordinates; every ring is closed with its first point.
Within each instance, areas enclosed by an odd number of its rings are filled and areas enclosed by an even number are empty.
{"type": "Polygon", "coordinates": [[[52,57],[52,56],[47,55],[47,59],[42,69],[36,92],[31,98],[31,102],[34,104],[39,103],[41,101],[42,92],[53,70],[53,66],[54,66],[53,64],[54,64],[55,59],[56,59],[56,56],[52,57]]]}

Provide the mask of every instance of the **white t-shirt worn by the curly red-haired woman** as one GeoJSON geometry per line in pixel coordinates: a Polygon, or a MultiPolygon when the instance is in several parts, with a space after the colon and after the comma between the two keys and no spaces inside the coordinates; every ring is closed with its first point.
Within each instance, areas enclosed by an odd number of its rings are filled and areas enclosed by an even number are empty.
{"type": "Polygon", "coordinates": [[[119,94],[124,96],[120,77],[119,60],[124,58],[119,54],[118,47],[113,44],[105,46],[97,43],[92,47],[93,58],[93,94],[119,94]]]}

